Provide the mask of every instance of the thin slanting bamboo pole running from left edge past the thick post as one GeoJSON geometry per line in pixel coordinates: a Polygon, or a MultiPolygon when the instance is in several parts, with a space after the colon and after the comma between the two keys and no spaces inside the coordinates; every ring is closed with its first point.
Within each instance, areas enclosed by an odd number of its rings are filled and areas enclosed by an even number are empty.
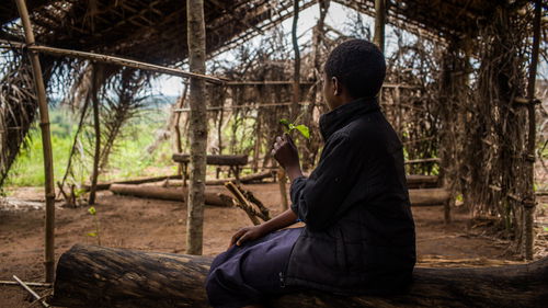
{"type": "Polygon", "coordinates": [[[22,44],[20,42],[11,42],[11,41],[2,39],[2,41],[0,41],[0,43],[4,44],[4,46],[2,46],[2,47],[7,47],[7,48],[13,48],[13,47],[27,48],[28,50],[32,50],[32,52],[44,53],[44,54],[48,54],[48,55],[53,55],[53,56],[64,56],[64,57],[70,57],[70,58],[87,59],[87,60],[93,60],[93,61],[102,62],[102,64],[130,67],[130,68],[149,70],[149,71],[153,71],[153,72],[161,72],[161,73],[184,77],[184,78],[194,77],[194,78],[202,79],[202,80],[205,80],[205,81],[212,82],[212,83],[225,83],[226,82],[225,79],[220,79],[220,78],[213,77],[213,76],[207,76],[204,73],[184,71],[184,70],[178,69],[178,68],[170,68],[170,67],[164,67],[164,66],[159,66],[159,65],[152,65],[152,64],[148,64],[148,62],[136,61],[136,60],[116,57],[116,56],[107,56],[107,55],[101,55],[101,54],[95,54],[95,53],[87,53],[87,52],[56,48],[56,47],[48,47],[48,46],[39,46],[39,45],[34,45],[34,42],[33,42],[33,44],[30,44],[27,42],[25,45],[25,44],[22,44]]]}

